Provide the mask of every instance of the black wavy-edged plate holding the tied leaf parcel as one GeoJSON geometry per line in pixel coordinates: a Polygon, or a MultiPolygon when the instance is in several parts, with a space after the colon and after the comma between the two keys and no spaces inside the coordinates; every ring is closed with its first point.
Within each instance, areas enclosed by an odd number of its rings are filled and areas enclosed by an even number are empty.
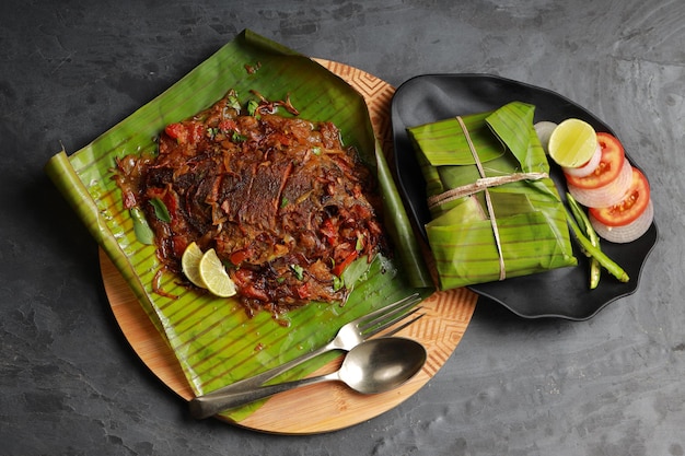
{"type": "MultiPolygon", "coordinates": [[[[425,182],[406,128],[455,115],[497,109],[513,101],[535,105],[535,121],[560,122],[566,118],[577,117],[588,121],[597,131],[617,136],[606,124],[581,106],[545,89],[487,74],[427,74],[410,79],[397,89],[392,102],[395,165],[399,189],[409,214],[425,238],[423,225],[430,221],[425,182]]],[[[629,155],[628,151],[626,155],[629,155]]],[[[636,165],[629,156],[628,160],[636,165]]],[[[552,177],[564,196],[566,187],[558,167],[553,166],[552,177]]],[[[602,244],[602,249],[628,272],[628,283],[620,283],[604,271],[600,287],[590,290],[588,261],[582,254],[576,252],[578,267],[469,288],[522,317],[588,319],[611,302],[635,292],[645,260],[655,243],[657,226],[652,223],[649,231],[632,243],[602,244]]]]}

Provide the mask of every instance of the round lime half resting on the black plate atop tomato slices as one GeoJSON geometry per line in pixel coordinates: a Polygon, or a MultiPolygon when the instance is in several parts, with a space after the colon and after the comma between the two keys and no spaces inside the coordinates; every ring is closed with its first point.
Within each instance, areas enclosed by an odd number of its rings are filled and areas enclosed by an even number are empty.
{"type": "Polygon", "coordinates": [[[549,156],[564,167],[588,163],[597,148],[597,136],[592,126],[580,119],[566,119],[549,136],[549,156]]]}

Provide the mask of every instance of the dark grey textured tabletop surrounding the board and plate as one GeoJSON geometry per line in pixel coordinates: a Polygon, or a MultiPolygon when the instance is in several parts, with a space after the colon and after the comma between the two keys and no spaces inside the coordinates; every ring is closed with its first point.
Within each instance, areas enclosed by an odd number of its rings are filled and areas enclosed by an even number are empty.
{"type": "Polygon", "coordinates": [[[685,454],[684,2],[4,0],[0,17],[0,454],[685,454]],[[121,336],[97,247],[43,166],[246,27],[395,86],[496,73],[603,118],[653,187],[660,239],[638,292],[582,323],[480,303],[423,389],[348,430],[190,420],[121,336]]]}

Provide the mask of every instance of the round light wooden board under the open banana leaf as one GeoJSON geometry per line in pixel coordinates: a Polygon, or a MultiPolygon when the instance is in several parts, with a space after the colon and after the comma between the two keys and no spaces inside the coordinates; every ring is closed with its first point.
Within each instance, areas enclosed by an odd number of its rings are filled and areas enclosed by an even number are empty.
{"type": "MultiPolygon", "coordinates": [[[[392,150],[390,104],[394,87],[356,68],[328,60],[317,62],[352,85],[367,101],[371,121],[383,150],[392,150]]],[[[105,292],[114,316],[132,349],[146,365],[172,390],[186,400],[194,393],[176,355],[144,313],[132,291],[109,260],[100,252],[105,292]]],[[[398,336],[421,342],[428,351],[426,365],[414,378],[392,391],[364,396],[327,383],[274,396],[240,426],[279,434],[313,434],[361,423],[391,410],[418,391],[448,361],[474,313],[477,296],[466,289],[433,293],[422,302],[423,318],[398,336]]],[[[329,363],[312,375],[329,372],[329,363]]]]}

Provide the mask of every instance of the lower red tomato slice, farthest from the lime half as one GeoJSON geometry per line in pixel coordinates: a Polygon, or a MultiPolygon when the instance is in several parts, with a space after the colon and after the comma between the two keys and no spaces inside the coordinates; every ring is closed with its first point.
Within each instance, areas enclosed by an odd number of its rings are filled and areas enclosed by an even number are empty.
{"type": "Polygon", "coordinates": [[[650,201],[647,177],[632,167],[632,180],[624,199],[608,208],[590,208],[590,213],[607,226],[624,226],[634,222],[645,212],[650,201]]]}

